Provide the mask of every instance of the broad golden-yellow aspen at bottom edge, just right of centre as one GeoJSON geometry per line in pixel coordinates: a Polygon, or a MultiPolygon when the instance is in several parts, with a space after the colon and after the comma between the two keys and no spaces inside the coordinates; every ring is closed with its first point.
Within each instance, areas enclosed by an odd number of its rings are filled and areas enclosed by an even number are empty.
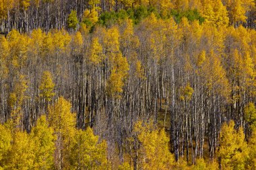
{"type": "Polygon", "coordinates": [[[168,151],[169,139],[164,129],[154,129],[152,124],[143,125],[137,122],[134,132],[138,134],[141,148],[139,148],[139,165],[142,169],[170,169],[174,157],[168,151]]]}

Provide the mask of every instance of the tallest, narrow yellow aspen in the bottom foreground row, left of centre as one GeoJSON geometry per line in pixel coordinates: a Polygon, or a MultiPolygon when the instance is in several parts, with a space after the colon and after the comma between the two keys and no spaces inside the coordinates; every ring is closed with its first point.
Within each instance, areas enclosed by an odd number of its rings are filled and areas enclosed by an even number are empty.
{"type": "Polygon", "coordinates": [[[57,136],[56,168],[68,169],[71,149],[75,143],[75,114],[71,113],[71,103],[59,97],[57,103],[49,107],[49,124],[57,136]]]}

